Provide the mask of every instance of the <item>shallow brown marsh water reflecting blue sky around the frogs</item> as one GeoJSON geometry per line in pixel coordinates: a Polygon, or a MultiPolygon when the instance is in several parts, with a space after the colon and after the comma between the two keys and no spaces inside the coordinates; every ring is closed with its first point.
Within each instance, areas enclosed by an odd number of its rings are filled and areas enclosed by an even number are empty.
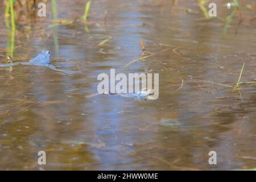
{"type": "MultiPolygon", "coordinates": [[[[88,27],[56,24],[47,16],[23,17],[12,42],[3,2],[0,61],[10,44],[14,61],[42,49],[57,68],[0,69],[0,169],[200,170],[256,166],[255,11],[242,1],[243,22],[218,3],[220,19],[205,20],[196,1],[93,1],[88,27]],[[189,11],[188,11],[189,10],[189,11]],[[108,42],[98,45],[102,40],[108,42]],[[147,59],[142,55],[141,40],[147,59]],[[139,101],[97,94],[97,76],[159,73],[159,98],[139,101]],[[183,84],[181,84],[183,82],[183,84]],[[88,97],[92,96],[92,97],[88,97]],[[46,152],[46,165],[38,152],[46,152]],[[208,163],[216,151],[217,165],[208,163]]],[[[58,19],[74,20],[84,1],[57,1],[58,19]]]]}

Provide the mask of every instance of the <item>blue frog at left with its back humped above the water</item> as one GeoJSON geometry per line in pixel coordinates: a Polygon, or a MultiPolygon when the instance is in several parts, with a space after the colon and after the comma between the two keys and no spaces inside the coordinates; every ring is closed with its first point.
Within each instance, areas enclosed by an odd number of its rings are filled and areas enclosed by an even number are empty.
{"type": "Polygon", "coordinates": [[[64,73],[71,73],[71,71],[66,71],[62,69],[56,69],[54,65],[51,64],[51,52],[47,50],[43,50],[39,53],[36,57],[32,58],[28,62],[16,62],[12,63],[10,57],[8,57],[9,64],[0,64],[0,67],[13,67],[15,65],[34,65],[34,66],[40,66],[40,67],[48,67],[54,71],[58,72],[64,72],[64,73]]]}

